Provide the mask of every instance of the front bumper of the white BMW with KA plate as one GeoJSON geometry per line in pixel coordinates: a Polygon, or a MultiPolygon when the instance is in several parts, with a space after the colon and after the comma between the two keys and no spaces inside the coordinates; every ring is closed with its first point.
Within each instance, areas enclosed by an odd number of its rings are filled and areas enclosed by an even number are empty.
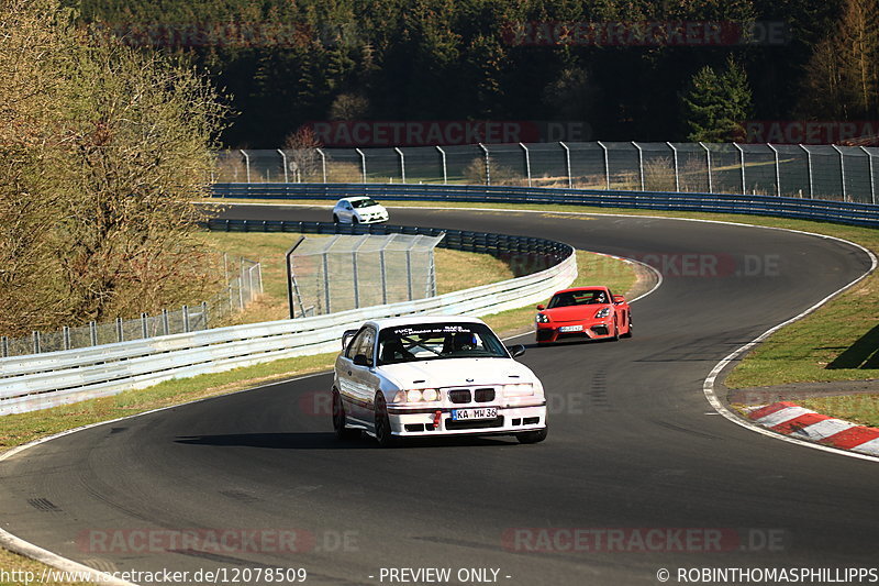
{"type": "Polygon", "coordinates": [[[431,436],[431,435],[460,435],[460,434],[511,434],[522,431],[534,431],[546,427],[546,402],[538,405],[500,407],[491,403],[479,403],[455,407],[468,409],[475,407],[497,407],[497,419],[471,419],[453,421],[449,407],[405,408],[388,407],[391,430],[393,435],[401,438],[431,436]],[[434,427],[439,412],[439,425],[434,427]]]}

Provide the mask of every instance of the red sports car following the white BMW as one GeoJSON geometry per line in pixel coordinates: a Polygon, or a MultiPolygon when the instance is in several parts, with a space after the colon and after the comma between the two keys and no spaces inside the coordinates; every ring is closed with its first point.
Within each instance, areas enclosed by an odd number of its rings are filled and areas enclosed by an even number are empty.
{"type": "Polygon", "coordinates": [[[565,339],[632,336],[632,311],[622,295],[607,287],[576,287],[556,291],[548,306],[537,306],[537,342],[565,339]]]}

